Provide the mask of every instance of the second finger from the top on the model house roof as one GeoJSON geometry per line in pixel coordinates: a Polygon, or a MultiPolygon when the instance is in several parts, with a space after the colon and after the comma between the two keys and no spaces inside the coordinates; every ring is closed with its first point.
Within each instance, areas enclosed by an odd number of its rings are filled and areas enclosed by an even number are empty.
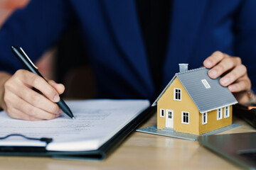
{"type": "Polygon", "coordinates": [[[220,77],[222,74],[232,69],[233,67],[240,65],[241,59],[239,57],[226,57],[220,61],[215,67],[210,69],[208,75],[210,78],[215,79],[220,77]]]}

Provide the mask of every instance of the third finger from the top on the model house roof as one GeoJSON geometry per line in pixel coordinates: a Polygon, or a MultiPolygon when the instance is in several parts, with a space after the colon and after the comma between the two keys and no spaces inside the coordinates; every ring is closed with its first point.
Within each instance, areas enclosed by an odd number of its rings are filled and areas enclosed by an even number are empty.
{"type": "Polygon", "coordinates": [[[220,84],[223,86],[228,86],[238,80],[240,77],[244,76],[247,72],[247,69],[244,65],[238,65],[231,72],[226,74],[220,79],[220,84]]]}

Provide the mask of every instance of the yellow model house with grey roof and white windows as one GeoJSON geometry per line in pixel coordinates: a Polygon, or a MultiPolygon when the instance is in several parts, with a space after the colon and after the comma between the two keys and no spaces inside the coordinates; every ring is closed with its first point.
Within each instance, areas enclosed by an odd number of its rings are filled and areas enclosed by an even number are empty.
{"type": "Polygon", "coordinates": [[[152,106],[157,105],[157,129],[201,135],[232,124],[236,101],[219,79],[210,79],[208,69],[188,70],[179,64],[176,73],[152,106]]]}

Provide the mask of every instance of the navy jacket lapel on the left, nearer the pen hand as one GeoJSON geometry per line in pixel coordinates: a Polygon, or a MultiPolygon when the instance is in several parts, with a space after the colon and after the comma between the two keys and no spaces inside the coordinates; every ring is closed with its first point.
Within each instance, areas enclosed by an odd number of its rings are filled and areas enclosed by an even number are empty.
{"type": "Polygon", "coordinates": [[[134,69],[137,77],[148,91],[154,89],[146,52],[142,40],[136,4],[134,1],[104,0],[103,4],[110,21],[110,27],[117,45],[122,50],[127,64],[134,69]]]}

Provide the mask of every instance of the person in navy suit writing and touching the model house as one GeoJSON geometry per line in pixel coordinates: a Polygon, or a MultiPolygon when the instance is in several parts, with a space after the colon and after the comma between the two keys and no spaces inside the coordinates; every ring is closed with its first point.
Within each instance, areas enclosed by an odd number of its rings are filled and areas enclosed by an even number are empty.
{"type": "Polygon", "coordinates": [[[209,68],[209,76],[221,76],[220,84],[240,103],[250,103],[256,84],[255,9],[255,0],[32,0],[0,30],[0,106],[17,119],[60,115],[54,102],[63,84],[47,84],[21,69],[10,46],[38,60],[74,22],[99,98],[153,101],[178,72],[178,63],[189,63],[190,69],[209,68]]]}

